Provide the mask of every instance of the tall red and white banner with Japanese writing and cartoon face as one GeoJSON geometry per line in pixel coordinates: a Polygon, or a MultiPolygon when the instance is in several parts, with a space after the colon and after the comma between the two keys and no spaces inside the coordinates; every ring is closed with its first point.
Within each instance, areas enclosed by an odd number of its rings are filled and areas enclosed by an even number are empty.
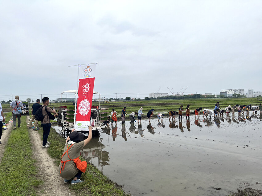
{"type": "Polygon", "coordinates": [[[79,67],[78,98],[76,106],[76,131],[87,131],[90,125],[92,97],[95,82],[96,64],[79,67]]]}

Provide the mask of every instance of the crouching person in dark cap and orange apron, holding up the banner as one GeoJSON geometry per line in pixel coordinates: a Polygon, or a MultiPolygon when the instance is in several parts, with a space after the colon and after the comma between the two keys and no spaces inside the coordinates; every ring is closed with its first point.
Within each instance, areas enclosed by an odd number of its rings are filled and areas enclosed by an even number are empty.
{"type": "Polygon", "coordinates": [[[84,140],[83,133],[72,130],[66,139],[64,152],[59,165],[59,175],[64,178],[64,183],[68,183],[72,178],[71,184],[84,182],[80,180],[83,172],[86,171],[86,161],[80,161],[80,150],[92,139],[92,126],[88,127],[88,138],[84,140]]]}

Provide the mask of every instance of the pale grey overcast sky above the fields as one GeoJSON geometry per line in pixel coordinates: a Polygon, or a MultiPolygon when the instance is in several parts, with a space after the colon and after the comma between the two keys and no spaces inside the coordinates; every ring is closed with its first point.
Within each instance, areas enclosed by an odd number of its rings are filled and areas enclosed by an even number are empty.
{"type": "Polygon", "coordinates": [[[1,0],[0,100],[56,98],[76,89],[77,67],[68,66],[96,62],[94,90],[103,97],[187,86],[185,94],[262,91],[261,7],[262,1],[1,0]]]}

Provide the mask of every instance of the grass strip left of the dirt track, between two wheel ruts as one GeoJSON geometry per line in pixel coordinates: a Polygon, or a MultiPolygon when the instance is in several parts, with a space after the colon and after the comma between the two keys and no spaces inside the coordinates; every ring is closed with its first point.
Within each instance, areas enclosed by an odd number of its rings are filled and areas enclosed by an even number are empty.
{"type": "Polygon", "coordinates": [[[35,160],[26,125],[21,117],[21,127],[12,130],[5,146],[0,165],[0,195],[37,195],[35,187],[43,182],[36,179],[35,160]]]}

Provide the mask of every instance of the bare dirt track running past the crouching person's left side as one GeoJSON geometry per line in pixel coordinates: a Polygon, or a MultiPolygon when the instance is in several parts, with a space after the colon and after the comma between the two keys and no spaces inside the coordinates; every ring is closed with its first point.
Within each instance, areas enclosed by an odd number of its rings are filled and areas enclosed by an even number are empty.
{"type": "MultiPolygon", "coordinates": [[[[27,123],[29,123],[28,118],[27,123]]],[[[37,194],[43,196],[71,195],[73,191],[69,190],[68,185],[63,183],[63,178],[59,176],[58,167],[55,165],[54,160],[47,154],[47,149],[42,149],[42,140],[38,131],[28,130],[33,144],[33,156],[39,167],[38,178],[44,181],[44,184],[37,188],[39,190],[37,194]],[[45,192],[42,193],[41,190],[45,190],[45,192]]]]}

